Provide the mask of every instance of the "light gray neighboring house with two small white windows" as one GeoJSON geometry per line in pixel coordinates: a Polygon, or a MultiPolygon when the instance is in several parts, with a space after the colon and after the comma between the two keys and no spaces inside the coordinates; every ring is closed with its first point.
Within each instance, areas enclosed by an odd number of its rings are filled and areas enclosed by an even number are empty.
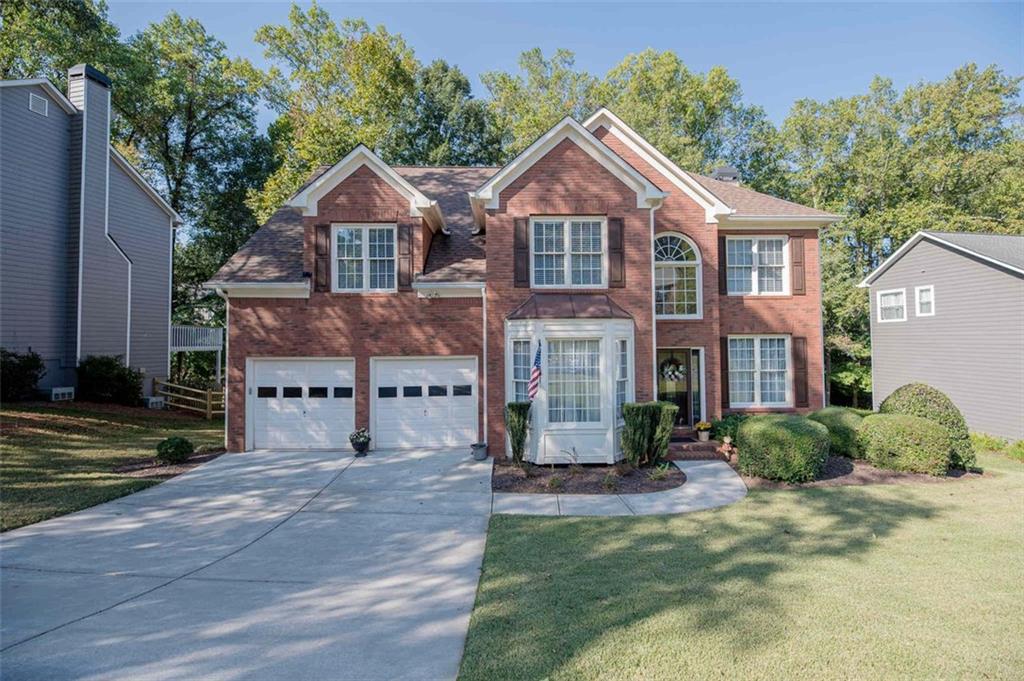
{"type": "Polygon", "coordinates": [[[876,409],[927,383],[972,431],[1024,439],[1024,236],[919,231],[860,286],[876,409]]]}

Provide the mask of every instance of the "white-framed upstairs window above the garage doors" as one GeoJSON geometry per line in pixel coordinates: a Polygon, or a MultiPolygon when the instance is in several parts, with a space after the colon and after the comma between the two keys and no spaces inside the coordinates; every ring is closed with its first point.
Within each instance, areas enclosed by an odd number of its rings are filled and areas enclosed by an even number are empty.
{"type": "Polygon", "coordinates": [[[395,290],[395,227],[334,225],[335,291],[395,290]]]}

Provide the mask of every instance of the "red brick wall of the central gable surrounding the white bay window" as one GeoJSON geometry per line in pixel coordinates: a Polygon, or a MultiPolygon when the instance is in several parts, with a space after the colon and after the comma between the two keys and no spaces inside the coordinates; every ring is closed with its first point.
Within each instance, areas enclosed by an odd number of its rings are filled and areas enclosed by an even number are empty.
{"type": "MultiPolygon", "coordinates": [[[[513,220],[530,215],[607,215],[624,219],[626,287],[600,289],[636,323],[636,367],[650,367],[651,288],[649,211],[636,207],[636,193],[570,140],[563,140],[501,193],[487,215],[487,442],[505,449],[505,318],[535,291],[514,286],[513,220]]],[[[543,292],[544,290],[541,290],[543,292]]],[[[564,291],[560,291],[564,293],[564,291]]],[[[583,292],[583,291],[574,291],[583,292]]],[[[649,371],[637,371],[636,395],[653,395],[649,371]]]]}

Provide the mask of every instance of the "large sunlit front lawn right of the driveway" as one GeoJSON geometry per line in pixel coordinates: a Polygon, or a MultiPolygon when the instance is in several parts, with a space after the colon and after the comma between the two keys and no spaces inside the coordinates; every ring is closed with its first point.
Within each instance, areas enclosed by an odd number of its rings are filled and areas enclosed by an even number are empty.
{"type": "Polygon", "coordinates": [[[979,462],[682,516],[494,516],[460,678],[1020,679],[1024,465],[979,462]]]}

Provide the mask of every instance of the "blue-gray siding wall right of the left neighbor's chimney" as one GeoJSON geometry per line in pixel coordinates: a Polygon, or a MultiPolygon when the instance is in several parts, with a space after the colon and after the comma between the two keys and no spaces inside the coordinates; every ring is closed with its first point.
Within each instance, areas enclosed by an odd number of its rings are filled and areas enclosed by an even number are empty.
{"type": "Polygon", "coordinates": [[[115,162],[111,162],[110,231],[132,261],[131,365],[167,378],[171,306],[171,226],[167,213],[115,162]]]}

